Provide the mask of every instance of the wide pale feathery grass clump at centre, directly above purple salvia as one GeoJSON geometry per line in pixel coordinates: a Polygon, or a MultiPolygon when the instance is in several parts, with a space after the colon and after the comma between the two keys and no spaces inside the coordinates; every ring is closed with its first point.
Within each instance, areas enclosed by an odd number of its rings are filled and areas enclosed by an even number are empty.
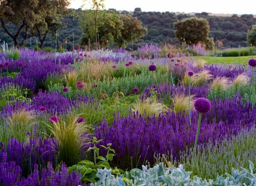
{"type": "Polygon", "coordinates": [[[150,117],[152,114],[155,114],[155,117],[158,117],[161,112],[167,111],[167,107],[161,103],[153,101],[152,98],[147,98],[146,100],[137,99],[133,104],[133,110],[135,112],[138,110],[140,115],[145,113],[145,117],[150,117]]]}

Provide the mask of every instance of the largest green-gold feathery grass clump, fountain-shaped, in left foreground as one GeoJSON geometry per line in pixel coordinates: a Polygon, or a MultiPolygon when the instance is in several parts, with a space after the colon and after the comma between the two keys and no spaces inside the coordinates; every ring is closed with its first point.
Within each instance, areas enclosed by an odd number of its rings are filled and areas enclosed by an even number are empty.
{"type": "Polygon", "coordinates": [[[77,119],[78,117],[67,118],[67,121],[61,119],[58,123],[48,125],[58,144],[58,158],[67,166],[72,166],[78,161],[81,148],[88,142],[87,126],[78,123],[77,119]]]}

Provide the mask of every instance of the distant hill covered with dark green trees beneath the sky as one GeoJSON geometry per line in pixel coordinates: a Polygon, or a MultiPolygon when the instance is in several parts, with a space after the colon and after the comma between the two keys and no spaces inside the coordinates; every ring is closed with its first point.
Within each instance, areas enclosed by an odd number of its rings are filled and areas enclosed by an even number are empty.
{"type": "MultiPolygon", "coordinates": [[[[116,11],[115,9],[111,9],[116,11]]],[[[163,42],[176,43],[175,29],[173,27],[174,22],[184,19],[190,16],[197,16],[206,18],[210,25],[209,37],[213,37],[214,41],[219,46],[224,47],[237,47],[238,45],[246,46],[247,30],[251,29],[252,25],[256,24],[255,15],[227,15],[227,14],[208,14],[202,13],[179,13],[179,12],[143,12],[140,8],[136,8],[133,12],[128,11],[116,11],[119,14],[130,14],[133,17],[137,17],[143,23],[143,26],[147,28],[148,33],[139,39],[139,42],[134,44],[134,48],[143,45],[145,43],[152,43],[160,45],[163,42]]],[[[78,26],[78,20],[73,20],[72,16],[66,16],[63,18],[63,22],[67,24],[67,27],[58,30],[58,41],[63,43],[63,39],[67,37],[69,43],[67,48],[70,48],[73,42],[73,35],[75,33],[75,43],[81,37],[81,30],[78,26]]],[[[15,25],[7,24],[7,26],[13,30],[15,25]]],[[[32,47],[36,45],[36,36],[29,36],[26,42],[26,47],[30,47],[30,37],[32,37],[32,47]]],[[[6,41],[9,46],[13,44],[12,39],[0,28],[0,43],[6,41]]],[[[45,47],[55,48],[55,38],[48,35],[45,41],[45,47]]],[[[129,46],[128,46],[129,47],[129,46]]]]}

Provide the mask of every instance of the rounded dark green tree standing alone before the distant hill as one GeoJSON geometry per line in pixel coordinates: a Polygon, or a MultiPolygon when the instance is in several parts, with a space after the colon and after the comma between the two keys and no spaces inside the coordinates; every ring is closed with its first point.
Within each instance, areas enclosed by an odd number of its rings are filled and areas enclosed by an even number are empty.
{"type": "Polygon", "coordinates": [[[181,42],[188,44],[206,44],[206,48],[212,50],[213,39],[209,39],[209,23],[207,19],[190,17],[174,23],[175,35],[181,42]]]}

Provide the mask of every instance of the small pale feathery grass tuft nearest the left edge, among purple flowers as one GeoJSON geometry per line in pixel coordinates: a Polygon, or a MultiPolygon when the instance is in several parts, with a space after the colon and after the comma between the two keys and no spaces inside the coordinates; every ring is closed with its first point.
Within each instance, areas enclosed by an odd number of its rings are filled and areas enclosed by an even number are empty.
{"type": "Polygon", "coordinates": [[[31,119],[33,119],[33,112],[26,110],[25,107],[20,108],[16,110],[15,112],[12,113],[10,117],[10,122],[11,123],[23,123],[24,125],[26,123],[29,123],[31,119]]]}

